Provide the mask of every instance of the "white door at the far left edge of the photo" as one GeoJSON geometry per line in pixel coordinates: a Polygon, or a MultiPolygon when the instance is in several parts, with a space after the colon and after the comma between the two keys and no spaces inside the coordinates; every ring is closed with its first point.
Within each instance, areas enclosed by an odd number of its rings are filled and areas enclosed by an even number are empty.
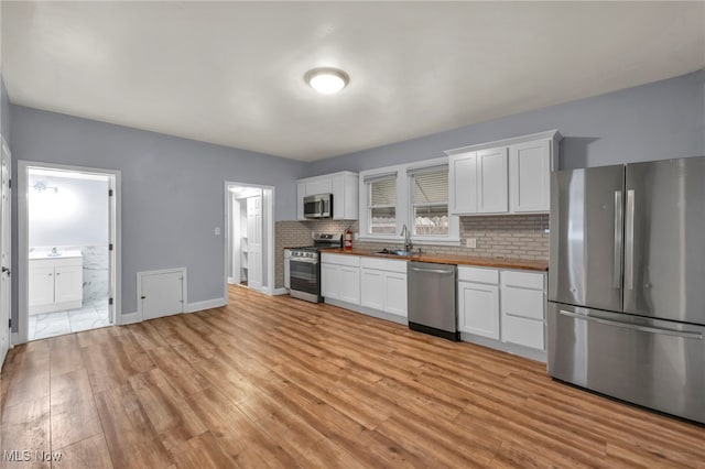
{"type": "Polygon", "coordinates": [[[2,157],[0,159],[0,368],[10,348],[10,277],[11,265],[11,215],[10,215],[10,149],[2,141],[2,157]]]}

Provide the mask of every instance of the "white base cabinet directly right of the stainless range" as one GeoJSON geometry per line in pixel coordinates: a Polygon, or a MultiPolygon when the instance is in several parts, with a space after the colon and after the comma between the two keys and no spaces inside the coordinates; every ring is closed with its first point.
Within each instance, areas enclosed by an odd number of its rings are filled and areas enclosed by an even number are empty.
{"type": "Polygon", "coordinates": [[[321,295],[359,305],[360,258],[324,252],[321,255],[321,295]]]}

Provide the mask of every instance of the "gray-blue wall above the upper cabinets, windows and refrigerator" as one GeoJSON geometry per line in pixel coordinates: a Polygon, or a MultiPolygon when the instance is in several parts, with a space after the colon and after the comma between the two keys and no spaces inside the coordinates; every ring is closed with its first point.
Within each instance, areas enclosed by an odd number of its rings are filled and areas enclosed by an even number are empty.
{"type": "Polygon", "coordinates": [[[705,154],[705,70],[314,162],[307,176],[443,156],[444,150],[557,129],[561,167],[705,154]]]}

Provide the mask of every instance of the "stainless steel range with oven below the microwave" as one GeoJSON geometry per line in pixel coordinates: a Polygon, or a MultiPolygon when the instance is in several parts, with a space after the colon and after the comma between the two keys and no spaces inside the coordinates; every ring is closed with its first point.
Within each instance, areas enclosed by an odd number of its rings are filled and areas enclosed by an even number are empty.
{"type": "Polygon", "coordinates": [[[294,298],[312,303],[321,302],[321,252],[322,248],[340,248],[340,238],[321,233],[314,237],[314,246],[290,248],[289,294],[294,298]]]}

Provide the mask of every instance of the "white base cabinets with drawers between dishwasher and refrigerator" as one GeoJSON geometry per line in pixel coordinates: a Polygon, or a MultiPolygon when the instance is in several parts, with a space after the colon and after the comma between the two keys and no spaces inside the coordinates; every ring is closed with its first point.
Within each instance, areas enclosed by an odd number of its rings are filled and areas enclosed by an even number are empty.
{"type": "Polygon", "coordinates": [[[458,328],[545,349],[545,274],[458,266],[458,328]]]}

